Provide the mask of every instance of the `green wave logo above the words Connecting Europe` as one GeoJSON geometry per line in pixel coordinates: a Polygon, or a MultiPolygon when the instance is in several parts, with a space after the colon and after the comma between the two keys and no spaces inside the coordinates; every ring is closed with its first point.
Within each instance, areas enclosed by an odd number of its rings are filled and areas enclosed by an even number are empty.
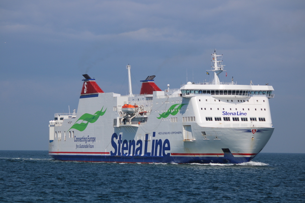
{"type": "MultiPolygon", "coordinates": [[[[95,114],[83,114],[73,125],[70,129],[74,128],[76,130],[79,131],[84,131],[87,128],[87,125],[89,123],[94,123],[95,121],[97,121],[97,119],[99,119],[100,116],[104,115],[107,108],[105,109],[105,111],[103,111],[103,108],[100,111],[95,112],[95,114]],[[78,121],[81,121],[80,123],[77,123],[78,121]]],[[[70,130],[69,129],[69,130],[70,130]]],[[[68,131],[69,131],[68,130],[68,131]]]]}

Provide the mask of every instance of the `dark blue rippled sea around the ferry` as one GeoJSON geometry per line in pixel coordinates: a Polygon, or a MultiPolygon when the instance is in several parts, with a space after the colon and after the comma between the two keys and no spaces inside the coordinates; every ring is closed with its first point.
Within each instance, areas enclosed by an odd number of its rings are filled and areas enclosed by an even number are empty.
{"type": "Polygon", "coordinates": [[[305,202],[305,154],[243,164],[62,162],[0,151],[0,202],[305,202]]]}

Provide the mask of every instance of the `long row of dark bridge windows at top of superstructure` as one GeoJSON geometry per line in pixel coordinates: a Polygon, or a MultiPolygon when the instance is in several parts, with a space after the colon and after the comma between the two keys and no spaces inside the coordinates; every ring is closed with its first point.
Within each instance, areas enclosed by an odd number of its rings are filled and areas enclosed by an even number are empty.
{"type": "Polygon", "coordinates": [[[272,91],[249,90],[181,90],[183,94],[212,94],[212,95],[247,95],[247,94],[271,94],[272,91]]]}

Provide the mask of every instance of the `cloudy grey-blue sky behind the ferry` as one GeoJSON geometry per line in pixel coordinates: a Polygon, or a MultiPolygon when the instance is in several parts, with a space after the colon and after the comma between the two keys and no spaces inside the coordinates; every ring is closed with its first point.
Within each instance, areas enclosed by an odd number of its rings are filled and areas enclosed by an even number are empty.
{"type": "Polygon", "coordinates": [[[274,88],[262,152],[305,153],[305,1],[0,0],[0,150],[48,150],[54,113],[77,109],[82,74],[128,94],[212,80],[274,88]],[[188,80],[187,80],[188,79],[188,80]]]}

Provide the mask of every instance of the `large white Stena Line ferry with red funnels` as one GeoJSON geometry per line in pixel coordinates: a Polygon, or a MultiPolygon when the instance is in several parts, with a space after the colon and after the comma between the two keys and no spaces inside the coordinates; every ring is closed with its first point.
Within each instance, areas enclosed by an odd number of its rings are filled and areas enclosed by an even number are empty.
{"type": "MultiPolygon", "coordinates": [[[[272,86],[220,82],[222,55],[206,74],[213,81],[161,90],[155,75],[132,93],[104,93],[88,74],[77,108],[49,121],[49,156],[62,161],[118,163],[244,163],[273,133],[272,86]]],[[[70,111],[70,110],[69,110],[70,111]]]]}

